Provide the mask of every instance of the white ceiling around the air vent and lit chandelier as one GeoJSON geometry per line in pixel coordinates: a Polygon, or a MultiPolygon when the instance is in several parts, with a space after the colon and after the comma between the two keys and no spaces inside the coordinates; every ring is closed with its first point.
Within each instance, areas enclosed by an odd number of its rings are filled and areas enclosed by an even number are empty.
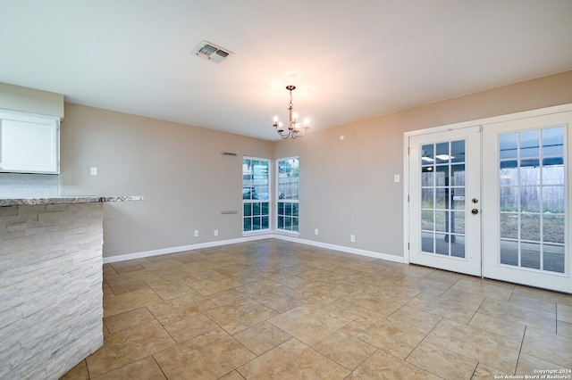
{"type": "Polygon", "coordinates": [[[570,0],[3,0],[0,82],[279,139],[572,70],[570,0]],[[233,54],[192,54],[201,40],[233,54]]]}

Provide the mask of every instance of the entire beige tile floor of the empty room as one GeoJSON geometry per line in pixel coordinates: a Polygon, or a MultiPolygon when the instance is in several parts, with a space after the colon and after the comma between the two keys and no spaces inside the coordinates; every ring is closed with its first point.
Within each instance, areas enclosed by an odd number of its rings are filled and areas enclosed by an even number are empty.
{"type": "Polygon", "coordinates": [[[104,346],[64,379],[572,375],[572,295],[432,268],[268,239],[105,264],[103,286],[104,346]]]}

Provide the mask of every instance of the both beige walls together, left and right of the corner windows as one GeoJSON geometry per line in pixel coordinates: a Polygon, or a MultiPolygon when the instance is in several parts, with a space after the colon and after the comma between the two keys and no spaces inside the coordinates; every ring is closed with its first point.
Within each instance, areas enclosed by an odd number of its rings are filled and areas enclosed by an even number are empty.
{"type": "Polygon", "coordinates": [[[564,103],[572,71],[274,143],[66,103],[61,182],[67,194],[145,196],[105,205],[110,257],[240,238],[242,155],[299,155],[301,239],[403,256],[404,132],[564,103]]]}

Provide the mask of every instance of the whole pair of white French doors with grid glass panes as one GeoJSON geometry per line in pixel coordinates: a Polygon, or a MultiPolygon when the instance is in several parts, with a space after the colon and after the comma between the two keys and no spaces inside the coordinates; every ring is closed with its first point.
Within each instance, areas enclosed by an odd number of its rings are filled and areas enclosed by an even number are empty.
{"type": "Polygon", "coordinates": [[[557,112],[409,136],[409,261],[572,293],[570,124],[557,112]]]}

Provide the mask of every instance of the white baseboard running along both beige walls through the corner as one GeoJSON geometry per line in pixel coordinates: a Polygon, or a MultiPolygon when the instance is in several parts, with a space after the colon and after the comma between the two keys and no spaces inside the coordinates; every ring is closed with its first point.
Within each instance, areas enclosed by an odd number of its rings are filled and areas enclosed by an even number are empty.
{"type": "Polygon", "coordinates": [[[104,264],[107,264],[110,262],[118,262],[118,261],[133,260],[133,259],[142,259],[142,258],[151,257],[151,256],[159,256],[162,254],[193,251],[193,250],[198,250],[201,248],[218,247],[221,245],[253,242],[255,240],[272,239],[272,238],[285,240],[285,241],[289,241],[289,242],[293,242],[293,243],[313,245],[315,247],[331,249],[334,251],[347,252],[347,253],[358,254],[361,256],[373,257],[375,259],[389,260],[389,261],[400,262],[400,263],[405,262],[403,257],[394,256],[394,255],[387,254],[387,253],[359,250],[356,248],[346,247],[343,245],[320,243],[320,242],[315,242],[312,240],[300,239],[299,237],[296,237],[293,235],[264,234],[264,235],[245,235],[245,236],[237,238],[237,239],[228,239],[228,240],[219,240],[219,241],[215,241],[215,242],[181,245],[181,246],[177,246],[177,247],[162,248],[162,249],[153,250],[153,251],[134,252],[134,253],[117,255],[117,256],[108,256],[108,257],[104,257],[104,264]]]}

